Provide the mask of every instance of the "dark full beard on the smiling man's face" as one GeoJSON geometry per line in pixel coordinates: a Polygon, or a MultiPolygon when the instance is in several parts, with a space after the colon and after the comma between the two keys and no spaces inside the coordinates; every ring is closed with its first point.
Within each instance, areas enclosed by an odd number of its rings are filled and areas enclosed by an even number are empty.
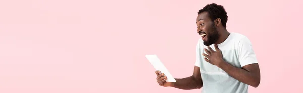
{"type": "Polygon", "coordinates": [[[218,29],[215,27],[215,23],[213,22],[212,27],[207,34],[207,41],[204,41],[203,44],[206,46],[210,46],[210,45],[214,44],[215,42],[217,42],[217,40],[219,39],[219,36],[220,36],[220,34],[218,32],[218,29]]]}

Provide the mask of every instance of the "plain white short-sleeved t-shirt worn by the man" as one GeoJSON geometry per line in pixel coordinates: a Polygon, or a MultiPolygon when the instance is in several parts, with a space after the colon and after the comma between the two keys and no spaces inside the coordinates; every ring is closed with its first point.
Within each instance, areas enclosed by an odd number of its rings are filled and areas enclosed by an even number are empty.
{"type": "MultiPolygon", "coordinates": [[[[214,44],[210,47],[216,51],[214,44]]],[[[218,44],[222,51],[223,60],[229,64],[241,68],[248,64],[258,63],[250,40],[239,33],[230,33],[227,39],[218,44]]],[[[248,85],[242,83],[221,68],[210,64],[204,60],[204,48],[208,49],[203,44],[203,40],[199,39],[196,47],[196,62],[195,66],[200,67],[203,87],[203,93],[247,93],[248,85]]],[[[207,54],[207,53],[205,53],[207,54]]]]}

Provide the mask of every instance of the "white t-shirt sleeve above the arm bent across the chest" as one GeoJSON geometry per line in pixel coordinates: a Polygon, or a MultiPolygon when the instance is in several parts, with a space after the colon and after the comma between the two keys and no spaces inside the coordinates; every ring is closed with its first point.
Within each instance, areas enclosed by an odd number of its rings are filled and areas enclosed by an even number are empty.
{"type": "Polygon", "coordinates": [[[254,49],[252,49],[252,43],[247,37],[244,37],[239,41],[238,50],[241,67],[258,63],[254,49]]]}

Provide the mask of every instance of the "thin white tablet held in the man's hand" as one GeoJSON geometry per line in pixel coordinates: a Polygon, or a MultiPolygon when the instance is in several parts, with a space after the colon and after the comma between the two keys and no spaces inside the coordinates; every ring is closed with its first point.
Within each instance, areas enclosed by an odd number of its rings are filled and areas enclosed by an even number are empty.
{"type": "Polygon", "coordinates": [[[157,57],[157,55],[146,55],[146,58],[156,70],[159,70],[161,73],[164,73],[164,75],[167,77],[166,82],[176,82],[175,78],[169,73],[169,71],[166,69],[166,67],[157,57]]]}

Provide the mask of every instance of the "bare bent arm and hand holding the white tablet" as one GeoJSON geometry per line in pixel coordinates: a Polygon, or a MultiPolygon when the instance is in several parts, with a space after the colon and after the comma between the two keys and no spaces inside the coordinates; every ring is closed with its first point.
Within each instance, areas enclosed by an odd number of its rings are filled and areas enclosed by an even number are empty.
{"type": "Polygon", "coordinates": [[[156,74],[158,75],[157,80],[159,85],[161,86],[170,86],[184,90],[200,89],[203,86],[200,67],[198,66],[194,67],[192,76],[182,79],[176,79],[176,82],[165,82],[166,80],[165,74],[159,74],[159,73],[160,71],[156,71],[156,74]]]}

